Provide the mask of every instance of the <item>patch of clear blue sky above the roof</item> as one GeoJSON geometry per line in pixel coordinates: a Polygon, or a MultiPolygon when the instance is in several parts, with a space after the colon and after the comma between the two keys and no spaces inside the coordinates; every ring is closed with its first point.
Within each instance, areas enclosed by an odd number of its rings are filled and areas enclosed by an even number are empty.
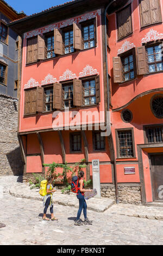
{"type": "Polygon", "coordinates": [[[63,4],[71,0],[5,0],[16,11],[24,11],[27,15],[39,13],[52,6],[63,4]]]}

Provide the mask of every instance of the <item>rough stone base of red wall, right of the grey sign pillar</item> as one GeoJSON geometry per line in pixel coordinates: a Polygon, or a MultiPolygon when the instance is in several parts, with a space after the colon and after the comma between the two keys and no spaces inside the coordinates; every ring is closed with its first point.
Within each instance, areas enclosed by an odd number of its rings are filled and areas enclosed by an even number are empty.
{"type": "MultiPolygon", "coordinates": [[[[102,185],[101,196],[116,199],[114,185],[102,185]]],[[[118,186],[118,202],[123,204],[142,205],[140,185],[118,186]]]]}

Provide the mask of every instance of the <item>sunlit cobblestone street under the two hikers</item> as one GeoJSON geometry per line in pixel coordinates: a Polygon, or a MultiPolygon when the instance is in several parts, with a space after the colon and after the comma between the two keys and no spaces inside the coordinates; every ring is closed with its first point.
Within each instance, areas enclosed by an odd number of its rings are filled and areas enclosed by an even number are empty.
{"type": "MultiPolygon", "coordinates": [[[[17,198],[9,194],[16,176],[0,176],[1,209],[0,245],[162,245],[163,221],[127,216],[145,212],[145,206],[112,205],[104,212],[87,210],[92,225],[75,226],[77,209],[55,204],[54,215],[59,221],[42,220],[42,202],[17,198]],[[140,208],[140,210],[139,210],[140,208]],[[122,215],[126,212],[125,215],[122,215]]],[[[89,204],[89,201],[87,202],[89,204]]],[[[161,214],[163,208],[150,209],[161,214]]],[[[49,209],[48,212],[49,213],[49,209]]],[[[146,212],[145,212],[146,214],[146,212]]],[[[83,214],[81,215],[83,219],[83,214]]]]}

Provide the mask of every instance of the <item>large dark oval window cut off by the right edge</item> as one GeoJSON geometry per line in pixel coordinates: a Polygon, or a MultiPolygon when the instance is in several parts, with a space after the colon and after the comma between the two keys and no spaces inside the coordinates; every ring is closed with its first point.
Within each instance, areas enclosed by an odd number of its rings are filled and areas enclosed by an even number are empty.
{"type": "Polygon", "coordinates": [[[163,118],[163,95],[155,96],[152,100],[152,112],[155,117],[163,118]]]}

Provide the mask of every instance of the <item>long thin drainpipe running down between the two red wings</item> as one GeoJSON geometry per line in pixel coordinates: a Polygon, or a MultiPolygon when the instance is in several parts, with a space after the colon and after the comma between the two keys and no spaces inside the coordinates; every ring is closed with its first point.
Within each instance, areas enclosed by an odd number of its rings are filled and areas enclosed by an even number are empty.
{"type": "Polygon", "coordinates": [[[111,132],[111,121],[110,121],[110,111],[109,111],[109,106],[110,106],[110,102],[109,102],[109,77],[108,77],[108,49],[107,49],[107,32],[106,32],[106,13],[108,8],[110,7],[110,5],[112,3],[116,2],[116,0],[112,0],[106,7],[105,9],[105,54],[106,54],[106,81],[107,81],[107,96],[108,96],[108,124],[110,126],[110,134],[108,136],[111,137],[110,142],[111,142],[111,146],[112,146],[112,155],[114,157],[114,179],[115,179],[115,195],[116,195],[116,203],[118,204],[118,186],[117,186],[117,168],[116,168],[116,159],[115,159],[115,149],[114,149],[114,142],[113,142],[113,138],[112,138],[112,132],[111,132]]]}

